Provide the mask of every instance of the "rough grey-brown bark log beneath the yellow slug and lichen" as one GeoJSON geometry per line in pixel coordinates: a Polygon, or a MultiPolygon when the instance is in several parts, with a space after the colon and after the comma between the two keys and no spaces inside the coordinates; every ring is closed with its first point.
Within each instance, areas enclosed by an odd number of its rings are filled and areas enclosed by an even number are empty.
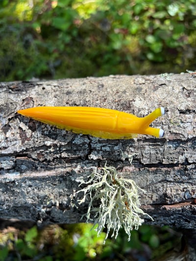
{"type": "Polygon", "coordinates": [[[0,83],[0,218],[38,224],[81,221],[70,195],[81,177],[115,166],[133,179],[142,209],[154,225],[196,227],[196,78],[186,74],[116,75],[53,81],[0,83]],[[143,117],[159,106],[153,122],[164,138],[139,135],[104,140],[27,119],[17,110],[35,106],[93,106],[143,117]],[[135,154],[132,165],[125,154],[135,154]]]}

